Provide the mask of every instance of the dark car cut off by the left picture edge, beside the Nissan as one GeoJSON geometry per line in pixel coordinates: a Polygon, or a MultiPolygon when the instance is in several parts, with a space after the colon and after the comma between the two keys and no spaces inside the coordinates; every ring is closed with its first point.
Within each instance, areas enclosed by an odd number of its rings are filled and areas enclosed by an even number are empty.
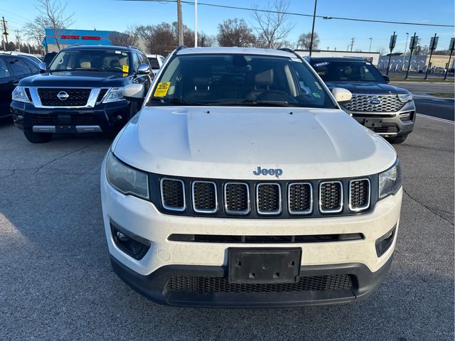
{"type": "Polygon", "coordinates": [[[11,96],[18,82],[39,72],[38,64],[26,55],[0,53],[0,118],[11,116],[11,96]]]}

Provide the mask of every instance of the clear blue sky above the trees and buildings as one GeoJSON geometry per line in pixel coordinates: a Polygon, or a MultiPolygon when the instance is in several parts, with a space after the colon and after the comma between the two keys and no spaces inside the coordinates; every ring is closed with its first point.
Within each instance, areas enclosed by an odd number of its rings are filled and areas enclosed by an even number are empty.
{"type": "MultiPolygon", "coordinates": [[[[253,1],[259,8],[267,8],[269,0],[198,0],[199,3],[223,4],[229,6],[252,7],[253,1]]],[[[314,0],[289,0],[289,12],[312,14],[314,0]]],[[[122,0],[62,0],[68,3],[67,11],[73,14],[73,29],[93,29],[102,31],[124,31],[137,25],[149,25],[163,21],[176,21],[176,3],[169,1],[122,1],[122,0]]],[[[272,2],[272,0],[270,0],[272,2]]],[[[0,0],[0,16],[9,22],[10,33],[21,30],[26,23],[38,15],[34,8],[36,0],[0,0]]],[[[194,28],[194,6],[183,4],[183,23],[194,28]]],[[[454,0],[318,0],[317,15],[341,16],[349,18],[366,18],[386,21],[406,21],[413,23],[437,23],[454,25],[454,0]]],[[[198,6],[198,32],[208,35],[217,33],[218,23],[228,18],[243,18],[255,27],[251,11],[238,9],[219,9],[209,6],[198,6]]],[[[301,33],[311,32],[312,18],[289,16],[294,25],[288,40],[296,41],[301,33]]],[[[422,45],[429,45],[434,33],[439,36],[439,49],[449,46],[454,36],[454,28],[412,26],[386,23],[365,23],[356,21],[326,20],[316,18],[315,31],[319,34],[321,50],[336,48],[346,50],[351,38],[355,38],[353,50],[380,51],[387,50],[390,36],[396,31],[397,46],[394,52],[405,49],[407,35],[417,33],[422,38],[422,45]]],[[[13,33],[15,34],[15,33],[13,33]]],[[[10,34],[10,37],[13,36],[10,34]]],[[[26,38],[21,35],[22,38],[26,38]]]]}

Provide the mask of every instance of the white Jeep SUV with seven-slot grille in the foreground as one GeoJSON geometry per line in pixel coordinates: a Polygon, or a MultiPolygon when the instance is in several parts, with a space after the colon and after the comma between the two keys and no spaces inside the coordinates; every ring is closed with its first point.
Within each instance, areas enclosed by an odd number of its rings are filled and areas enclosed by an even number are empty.
{"type": "Polygon", "coordinates": [[[178,48],[102,163],[114,271],[169,305],[353,301],[387,274],[394,148],[291,51],[178,48]]]}

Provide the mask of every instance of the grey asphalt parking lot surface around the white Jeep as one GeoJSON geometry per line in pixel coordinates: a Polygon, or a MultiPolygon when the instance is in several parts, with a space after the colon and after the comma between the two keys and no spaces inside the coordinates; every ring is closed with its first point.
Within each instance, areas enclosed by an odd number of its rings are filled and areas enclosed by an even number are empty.
{"type": "Polygon", "coordinates": [[[0,124],[1,340],[454,340],[454,124],[417,117],[396,146],[402,217],[390,275],[348,305],[156,305],[112,272],[100,163],[112,138],[28,143],[0,124]]]}

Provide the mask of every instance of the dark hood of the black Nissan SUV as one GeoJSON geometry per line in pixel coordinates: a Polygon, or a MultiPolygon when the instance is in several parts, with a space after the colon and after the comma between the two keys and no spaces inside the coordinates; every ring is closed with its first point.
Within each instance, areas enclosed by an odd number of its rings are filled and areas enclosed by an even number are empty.
{"type": "Polygon", "coordinates": [[[23,78],[23,87],[121,87],[132,77],[120,72],[59,71],[23,78]]]}

